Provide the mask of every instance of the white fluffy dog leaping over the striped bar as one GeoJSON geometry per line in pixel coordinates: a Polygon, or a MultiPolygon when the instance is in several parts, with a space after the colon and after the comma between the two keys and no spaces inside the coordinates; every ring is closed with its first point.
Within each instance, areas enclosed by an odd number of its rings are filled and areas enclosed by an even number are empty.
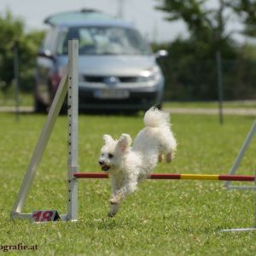
{"type": "Polygon", "coordinates": [[[104,135],[105,144],[99,164],[102,171],[108,172],[113,194],[110,198],[113,217],[119,209],[119,203],[126,195],[137,189],[137,183],[150,176],[158,160],[166,154],[171,162],[176,151],[176,140],[171,131],[170,116],[157,108],[150,108],[144,116],[145,128],[137,134],[131,148],[131,137],[122,134],[119,140],[104,135]]]}

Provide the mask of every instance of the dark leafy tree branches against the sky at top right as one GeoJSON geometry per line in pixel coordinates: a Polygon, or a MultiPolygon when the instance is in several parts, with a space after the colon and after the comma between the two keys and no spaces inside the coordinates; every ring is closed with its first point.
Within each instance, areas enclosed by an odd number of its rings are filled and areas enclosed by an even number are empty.
{"type": "Polygon", "coordinates": [[[206,44],[207,48],[222,49],[231,43],[232,32],[227,30],[227,24],[232,15],[245,26],[244,33],[255,31],[256,0],[218,0],[215,9],[207,8],[207,0],[157,1],[157,9],[166,12],[166,20],[183,20],[190,40],[206,44]]]}

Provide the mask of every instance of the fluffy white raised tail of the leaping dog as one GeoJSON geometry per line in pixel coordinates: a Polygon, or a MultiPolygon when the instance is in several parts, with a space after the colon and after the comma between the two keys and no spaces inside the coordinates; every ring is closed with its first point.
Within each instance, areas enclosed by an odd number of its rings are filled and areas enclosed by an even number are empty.
{"type": "Polygon", "coordinates": [[[144,115],[144,124],[149,127],[159,127],[163,125],[170,125],[169,113],[160,111],[157,108],[149,108],[144,115]]]}

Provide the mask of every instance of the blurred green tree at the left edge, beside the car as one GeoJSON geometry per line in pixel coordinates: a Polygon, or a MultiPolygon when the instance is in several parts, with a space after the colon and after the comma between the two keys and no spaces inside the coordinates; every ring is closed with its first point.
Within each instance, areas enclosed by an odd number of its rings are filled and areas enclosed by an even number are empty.
{"type": "Polygon", "coordinates": [[[33,83],[33,68],[44,32],[25,32],[25,23],[10,11],[0,15],[0,84],[6,90],[14,79],[14,47],[19,50],[21,89],[29,90],[33,83]]]}

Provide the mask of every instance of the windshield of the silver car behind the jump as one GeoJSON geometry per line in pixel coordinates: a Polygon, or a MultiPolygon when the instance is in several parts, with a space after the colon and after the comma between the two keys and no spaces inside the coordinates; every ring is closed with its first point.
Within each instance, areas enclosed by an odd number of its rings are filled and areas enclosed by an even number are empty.
{"type": "Polygon", "coordinates": [[[151,50],[134,29],[123,27],[71,27],[61,31],[58,55],[67,55],[67,42],[79,38],[79,55],[150,55],[151,50]]]}

